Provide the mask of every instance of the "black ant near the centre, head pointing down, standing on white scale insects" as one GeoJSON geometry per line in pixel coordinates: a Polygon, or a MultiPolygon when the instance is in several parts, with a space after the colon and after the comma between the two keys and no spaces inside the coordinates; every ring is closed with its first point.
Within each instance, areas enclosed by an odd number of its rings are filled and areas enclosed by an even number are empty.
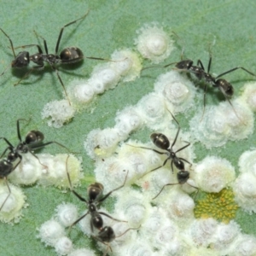
{"type": "MultiPolygon", "coordinates": [[[[169,110],[168,110],[169,113],[171,113],[169,110]]],[[[162,189],[160,189],[160,192],[154,196],[153,200],[158,196],[160,195],[160,193],[162,192],[162,190],[168,186],[168,185],[176,185],[176,184],[183,184],[183,183],[186,183],[189,179],[189,172],[188,171],[185,171],[185,166],[184,166],[184,163],[183,162],[186,162],[188,163],[190,166],[192,166],[192,164],[188,161],[188,160],[185,160],[183,159],[182,157],[177,157],[177,152],[179,151],[182,151],[184,148],[188,148],[190,143],[189,142],[185,142],[187,143],[185,146],[183,146],[182,148],[178,148],[176,151],[173,151],[173,147],[175,145],[175,143],[177,142],[177,137],[178,137],[178,134],[179,134],[179,131],[180,131],[180,125],[178,124],[177,122],[177,119],[173,116],[173,114],[171,113],[172,115],[172,119],[175,120],[175,122],[177,123],[178,125],[178,129],[177,129],[177,133],[176,133],[176,136],[174,138],[174,141],[170,147],[170,141],[169,139],[166,137],[166,135],[162,134],[162,133],[153,133],[151,134],[150,138],[152,140],[152,142],[154,143],[154,145],[160,149],[163,149],[163,150],[166,150],[166,152],[160,152],[156,149],[153,149],[153,148],[146,148],[146,147],[136,147],[136,148],[144,148],[144,149],[148,149],[148,150],[152,150],[154,151],[155,153],[157,154],[166,154],[167,155],[167,158],[166,160],[164,160],[164,163],[161,165],[161,166],[158,166],[156,168],[154,168],[153,170],[149,171],[149,172],[154,172],[158,169],[160,169],[161,167],[163,166],[166,166],[166,162],[167,160],[171,160],[171,168],[172,168],[172,173],[173,173],[173,164],[174,166],[176,166],[177,170],[179,170],[177,172],[177,183],[167,183],[166,185],[164,185],[162,187],[162,189]]],[[[130,145],[132,146],[132,145],[130,145]]],[[[134,146],[132,146],[134,147],[134,146]]],[[[144,177],[145,175],[147,175],[149,172],[146,172],[142,177],[144,177]]],[[[198,188],[196,188],[195,186],[189,184],[191,187],[195,188],[198,190],[198,188]]]]}

